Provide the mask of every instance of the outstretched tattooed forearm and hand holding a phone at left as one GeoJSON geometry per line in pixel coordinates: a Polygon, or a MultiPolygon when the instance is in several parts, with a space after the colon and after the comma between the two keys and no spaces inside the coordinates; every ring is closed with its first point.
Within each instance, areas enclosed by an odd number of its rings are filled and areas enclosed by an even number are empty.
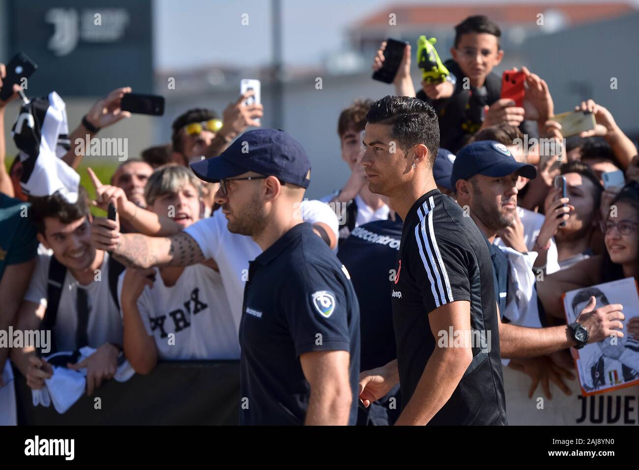
{"type": "Polygon", "coordinates": [[[205,261],[196,240],[187,233],[171,237],[119,233],[116,222],[105,217],[93,219],[91,241],[97,249],[111,251],[127,267],[190,266],[205,261]]]}

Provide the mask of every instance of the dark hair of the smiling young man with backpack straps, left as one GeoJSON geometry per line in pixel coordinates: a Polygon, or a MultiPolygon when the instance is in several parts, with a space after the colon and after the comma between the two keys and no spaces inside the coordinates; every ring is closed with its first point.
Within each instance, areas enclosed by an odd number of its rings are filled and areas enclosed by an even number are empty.
{"type": "Polygon", "coordinates": [[[73,204],[67,201],[59,191],[43,198],[31,197],[29,201],[31,201],[31,221],[38,233],[42,235],[45,233],[46,217],[56,217],[63,224],[70,224],[89,216],[89,197],[82,186],[78,189],[78,200],[73,204]]]}

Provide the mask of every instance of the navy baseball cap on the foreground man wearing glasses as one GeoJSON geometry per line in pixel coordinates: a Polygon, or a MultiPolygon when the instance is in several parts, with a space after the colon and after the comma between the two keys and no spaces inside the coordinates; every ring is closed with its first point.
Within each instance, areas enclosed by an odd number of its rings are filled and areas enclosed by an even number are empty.
{"type": "Polygon", "coordinates": [[[311,182],[311,162],[304,148],[279,129],[244,132],[219,157],[194,162],[190,167],[198,178],[211,183],[247,171],[276,176],[283,182],[304,188],[311,182]]]}

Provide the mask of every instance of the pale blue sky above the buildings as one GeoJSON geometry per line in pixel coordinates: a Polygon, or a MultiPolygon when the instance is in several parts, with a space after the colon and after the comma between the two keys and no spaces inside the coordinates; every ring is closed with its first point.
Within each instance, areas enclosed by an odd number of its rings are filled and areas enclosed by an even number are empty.
{"type": "MultiPolygon", "coordinates": [[[[346,27],[392,4],[442,3],[504,3],[512,8],[532,0],[282,0],[284,63],[317,65],[325,54],[343,47],[346,27]]],[[[639,8],[639,0],[629,3],[639,8]]],[[[555,2],[539,4],[550,7],[555,2]]],[[[153,8],[154,63],[159,70],[210,64],[255,66],[271,59],[270,0],[155,0],[153,8]],[[248,15],[246,26],[243,14],[248,15]]]]}

